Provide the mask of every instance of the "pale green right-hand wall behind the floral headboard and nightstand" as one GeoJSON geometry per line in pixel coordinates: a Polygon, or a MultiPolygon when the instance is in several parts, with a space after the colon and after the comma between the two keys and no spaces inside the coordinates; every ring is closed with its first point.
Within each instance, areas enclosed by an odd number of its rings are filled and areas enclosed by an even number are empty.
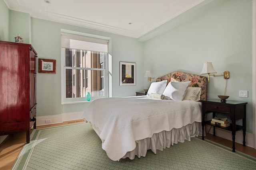
{"type": "MultiPolygon", "coordinates": [[[[144,70],[155,77],[175,70],[200,74],[206,62],[216,75],[230,71],[226,95],[248,102],[246,132],[252,133],[251,0],[230,0],[144,43],[144,70]],[[248,98],[239,97],[239,90],[248,90],[248,98]]],[[[225,83],[223,76],[211,76],[208,98],[224,95],[225,83]]]]}

